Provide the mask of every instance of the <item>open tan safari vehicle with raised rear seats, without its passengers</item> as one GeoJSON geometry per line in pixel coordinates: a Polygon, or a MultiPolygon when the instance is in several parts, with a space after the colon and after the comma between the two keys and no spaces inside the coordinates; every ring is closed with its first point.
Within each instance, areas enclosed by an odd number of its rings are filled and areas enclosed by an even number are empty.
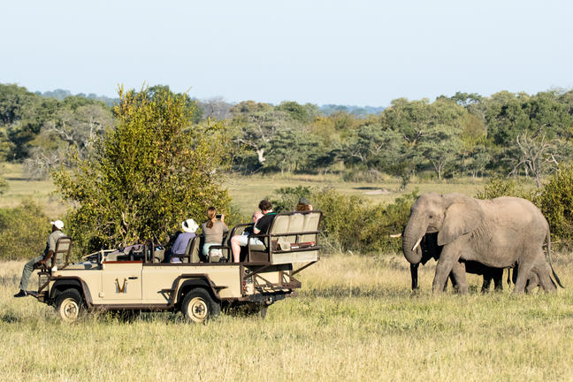
{"type": "Polygon", "coordinates": [[[101,250],[77,264],[69,262],[72,239],[62,237],[51,264],[39,273],[33,294],[53,305],[64,321],[83,309],[181,311],[202,322],[222,308],[244,309],[264,317],[272,303],[301,287],[297,273],[318,261],[320,211],[279,213],[269,233],[250,235],[264,245],[249,245],[240,263],[232,263],[230,238],[248,225],[237,225],[209,256],[199,254],[200,237],[189,241],[182,263],[165,263],[164,248],[153,242],[101,250]],[[220,249],[221,255],[211,254],[220,249]]]}

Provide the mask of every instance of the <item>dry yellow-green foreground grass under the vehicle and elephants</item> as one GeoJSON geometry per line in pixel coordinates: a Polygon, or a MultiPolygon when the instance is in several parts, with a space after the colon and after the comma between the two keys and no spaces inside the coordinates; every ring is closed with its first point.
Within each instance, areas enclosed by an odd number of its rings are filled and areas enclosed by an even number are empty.
{"type": "MultiPolygon", "coordinates": [[[[556,268],[573,285],[570,256],[556,268]]],[[[0,265],[0,376],[8,380],[571,380],[573,292],[514,296],[409,291],[401,256],[325,256],[300,294],[266,319],[180,314],[133,323],[88,315],[65,325],[32,297],[14,299],[23,263],[0,265]]]]}

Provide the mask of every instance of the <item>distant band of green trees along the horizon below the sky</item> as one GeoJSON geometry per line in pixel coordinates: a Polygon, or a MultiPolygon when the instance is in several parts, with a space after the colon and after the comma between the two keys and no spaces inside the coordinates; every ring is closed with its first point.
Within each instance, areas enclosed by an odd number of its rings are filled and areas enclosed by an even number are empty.
{"type": "MultiPolygon", "coordinates": [[[[153,97],[168,87],[149,88],[153,97]]],[[[175,95],[173,96],[181,96],[175,95]]],[[[113,99],[34,94],[0,85],[0,158],[24,161],[30,176],[65,164],[70,152],[113,127],[113,99]]],[[[510,174],[536,180],[573,153],[573,91],[536,95],[501,91],[393,100],[386,108],[187,100],[195,124],[225,119],[235,172],[342,172],[347,179],[406,185],[417,174],[438,179],[510,174]]],[[[189,126],[193,128],[193,126],[189,126]]]]}

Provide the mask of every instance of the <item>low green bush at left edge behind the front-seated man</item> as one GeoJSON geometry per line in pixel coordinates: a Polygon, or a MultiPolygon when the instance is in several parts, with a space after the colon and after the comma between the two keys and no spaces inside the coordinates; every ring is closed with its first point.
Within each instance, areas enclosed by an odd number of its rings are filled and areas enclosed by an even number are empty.
{"type": "Polygon", "coordinates": [[[42,255],[50,220],[34,202],[0,209],[0,259],[21,260],[42,255]]]}

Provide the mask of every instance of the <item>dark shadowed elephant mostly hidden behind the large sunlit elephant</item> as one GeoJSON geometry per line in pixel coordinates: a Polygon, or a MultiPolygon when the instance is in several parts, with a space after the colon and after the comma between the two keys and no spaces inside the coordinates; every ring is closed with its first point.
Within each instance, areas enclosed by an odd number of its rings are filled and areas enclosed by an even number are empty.
{"type": "MultiPolygon", "coordinates": [[[[418,288],[417,285],[417,269],[419,264],[426,264],[430,259],[438,261],[439,255],[441,254],[442,247],[438,245],[438,233],[426,233],[424,239],[420,243],[419,248],[416,250],[422,251],[422,259],[418,264],[410,264],[410,276],[412,279],[412,290],[418,288]]],[[[449,279],[452,281],[452,285],[459,293],[465,294],[468,292],[468,283],[466,282],[465,273],[472,273],[484,276],[484,283],[482,285],[482,293],[489,292],[489,288],[493,283],[495,285],[495,290],[503,290],[503,269],[500,268],[490,268],[484,264],[477,262],[460,262],[461,264],[456,264],[455,270],[449,274],[449,279]]],[[[447,286],[447,284],[446,284],[447,286]]],[[[446,287],[445,287],[446,289],[446,287]]]]}

